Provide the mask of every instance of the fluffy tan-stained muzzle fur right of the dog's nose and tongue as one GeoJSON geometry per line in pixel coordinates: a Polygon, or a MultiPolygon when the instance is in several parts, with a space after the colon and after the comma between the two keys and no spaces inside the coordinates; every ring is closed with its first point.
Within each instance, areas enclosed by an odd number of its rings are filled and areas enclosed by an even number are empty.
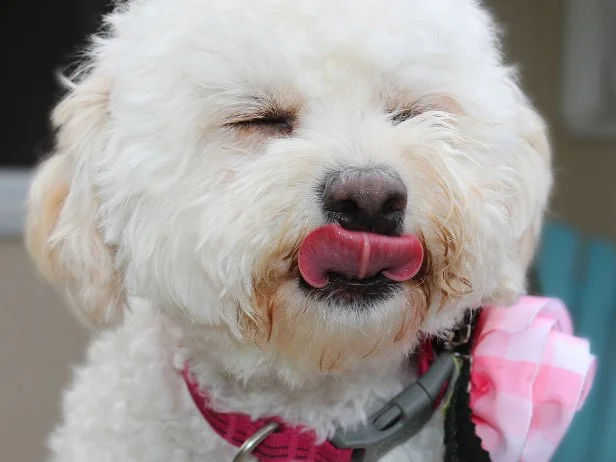
{"type": "Polygon", "coordinates": [[[486,201],[478,186],[481,172],[469,166],[470,154],[439,144],[403,157],[413,197],[409,222],[425,248],[420,277],[430,310],[436,313],[465,298],[472,303],[473,292],[485,286],[479,270],[484,258],[481,240],[484,221],[494,215],[482,205],[486,201]]]}

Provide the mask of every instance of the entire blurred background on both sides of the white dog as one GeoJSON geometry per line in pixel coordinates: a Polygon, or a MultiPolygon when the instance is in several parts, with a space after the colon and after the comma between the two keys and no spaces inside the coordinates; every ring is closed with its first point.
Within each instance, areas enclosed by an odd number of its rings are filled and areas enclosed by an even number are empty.
{"type": "MultiPolygon", "coordinates": [[[[553,138],[557,189],[533,290],[565,300],[600,361],[556,460],[616,461],[616,0],[486,3],[553,138]]],[[[1,460],[44,459],[61,389],[88,336],[34,275],[20,234],[30,169],[49,147],[48,112],[60,96],[54,70],[77,56],[107,8],[106,0],[0,5],[1,460]]]]}

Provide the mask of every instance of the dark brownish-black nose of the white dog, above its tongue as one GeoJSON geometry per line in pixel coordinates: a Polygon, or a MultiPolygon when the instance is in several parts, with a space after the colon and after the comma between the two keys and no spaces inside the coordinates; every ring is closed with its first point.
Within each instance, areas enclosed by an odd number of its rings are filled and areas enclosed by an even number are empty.
{"type": "Polygon", "coordinates": [[[399,234],[406,202],[402,180],[377,169],[337,172],[326,179],[323,187],[326,215],[352,231],[399,234]]]}

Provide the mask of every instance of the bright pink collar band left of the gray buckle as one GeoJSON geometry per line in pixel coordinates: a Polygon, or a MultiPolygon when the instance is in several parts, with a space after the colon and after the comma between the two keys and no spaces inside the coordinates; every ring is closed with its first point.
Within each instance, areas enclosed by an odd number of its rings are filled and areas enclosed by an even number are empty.
{"type": "Polygon", "coordinates": [[[329,441],[317,443],[314,431],[287,425],[278,417],[251,420],[245,414],[216,412],[209,406],[208,396],[199,388],[188,367],[182,371],[195,405],[212,429],[228,443],[240,447],[248,438],[268,424],[279,427],[268,435],[252,454],[262,462],[350,462],[353,451],[338,449],[329,441]]]}

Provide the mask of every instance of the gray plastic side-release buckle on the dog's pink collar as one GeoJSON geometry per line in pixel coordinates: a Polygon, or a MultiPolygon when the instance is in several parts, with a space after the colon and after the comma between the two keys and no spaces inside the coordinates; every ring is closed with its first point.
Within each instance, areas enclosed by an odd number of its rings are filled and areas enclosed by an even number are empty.
{"type": "Polygon", "coordinates": [[[337,432],[331,442],[339,449],[353,449],[353,462],[376,462],[409,440],[428,423],[445,382],[455,372],[452,353],[441,353],[430,369],[402,390],[362,428],[337,432]]]}

